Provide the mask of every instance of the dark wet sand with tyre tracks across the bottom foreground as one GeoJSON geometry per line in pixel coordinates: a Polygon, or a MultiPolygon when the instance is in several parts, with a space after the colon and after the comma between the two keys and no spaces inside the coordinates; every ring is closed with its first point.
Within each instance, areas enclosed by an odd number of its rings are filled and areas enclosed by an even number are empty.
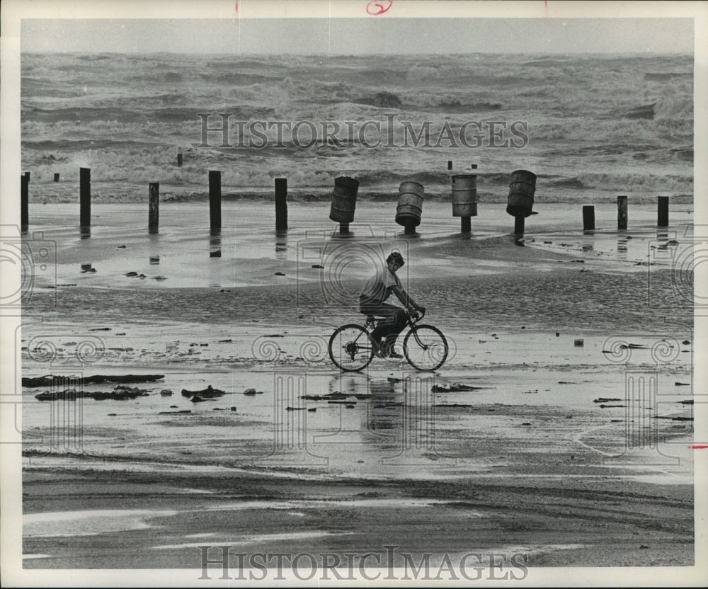
{"type": "Polygon", "coordinates": [[[25,559],[25,568],[200,568],[198,546],[209,544],[342,561],[346,552],[385,556],[393,544],[416,561],[478,551],[522,553],[530,567],[693,564],[690,486],[593,474],[587,465],[573,476],[484,470],[444,481],[95,466],[33,467],[26,508],[100,513],[108,504],[125,510],[122,530],[78,515],[71,526],[28,526],[25,554],[50,556],[25,559]],[[152,514],[136,519],[132,510],[152,514]]]}

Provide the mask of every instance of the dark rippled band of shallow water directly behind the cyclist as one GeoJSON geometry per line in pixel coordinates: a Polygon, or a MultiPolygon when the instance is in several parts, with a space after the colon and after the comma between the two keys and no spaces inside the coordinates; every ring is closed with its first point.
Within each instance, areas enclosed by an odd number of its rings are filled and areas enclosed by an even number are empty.
{"type": "MultiPolygon", "coordinates": [[[[444,326],[463,322],[470,329],[484,326],[515,331],[525,326],[548,331],[574,328],[653,333],[659,314],[661,329],[668,335],[692,328],[691,310],[675,304],[670,270],[654,271],[648,287],[645,273],[581,273],[576,270],[578,264],[567,261],[564,265],[563,269],[542,274],[533,268],[520,268],[513,274],[452,276],[444,282],[411,278],[406,285],[416,299],[428,302],[429,321],[444,326]],[[647,308],[648,299],[654,313],[647,308]]],[[[278,309],[277,321],[273,322],[284,325],[324,322],[336,326],[337,322],[359,321],[356,299],[360,283],[340,282],[336,289],[323,291],[317,282],[319,273],[311,273],[307,282],[302,278],[289,280],[286,275],[283,282],[289,284],[273,285],[268,277],[270,285],[225,290],[60,287],[55,292],[33,295],[33,304],[46,308],[45,316],[52,319],[70,314],[91,321],[92,327],[101,327],[102,321],[120,322],[127,314],[131,321],[171,321],[179,317],[204,324],[245,324],[267,314],[265,309],[278,309]]]]}

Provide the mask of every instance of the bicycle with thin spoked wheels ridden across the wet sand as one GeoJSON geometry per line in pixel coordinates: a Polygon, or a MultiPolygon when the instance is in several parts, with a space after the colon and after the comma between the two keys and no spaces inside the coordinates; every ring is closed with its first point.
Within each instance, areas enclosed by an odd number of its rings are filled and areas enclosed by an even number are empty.
{"type": "MultiPolygon", "coordinates": [[[[423,311],[413,318],[411,311],[406,310],[410,331],[404,338],[403,352],[413,368],[431,372],[445,364],[450,348],[442,331],[437,327],[418,324],[425,315],[423,311]]],[[[344,372],[357,372],[370,364],[375,355],[375,342],[371,332],[376,321],[374,315],[367,315],[364,326],[347,324],[332,333],[329,338],[329,357],[336,367],[344,372]]]]}

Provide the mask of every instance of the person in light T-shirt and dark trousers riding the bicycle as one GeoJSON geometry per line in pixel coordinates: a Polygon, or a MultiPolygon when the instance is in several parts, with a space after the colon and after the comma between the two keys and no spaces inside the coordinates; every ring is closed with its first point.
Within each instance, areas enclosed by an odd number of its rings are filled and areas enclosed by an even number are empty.
{"type": "Polygon", "coordinates": [[[393,292],[399,301],[409,309],[411,314],[415,311],[426,311],[416,303],[401,286],[401,281],[396,276],[396,270],[404,265],[403,256],[398,251],[393,251],[386,258],[386,265],[378,268],[377,272],[366,283],[359,297],[359,309],[365,315],[380,316],[381,319],[372,331],[371,336],[375,342],[375,352],[380,358],[403,358],[394,351],[394,344],[399,333],[406,327],[406,311],[385,301],[393,292]],[[386,338],[382,342],[382,338],[386,338]]]}

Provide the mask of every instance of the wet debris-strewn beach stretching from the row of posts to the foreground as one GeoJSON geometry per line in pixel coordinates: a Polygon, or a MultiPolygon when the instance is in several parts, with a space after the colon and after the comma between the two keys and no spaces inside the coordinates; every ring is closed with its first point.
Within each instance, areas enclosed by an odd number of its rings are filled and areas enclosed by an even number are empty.
{"type": "Polygon", "coordinates": [[[30,207],[57,264],[18,332],[22,376],[79,380],[23,387],[25,568],[200,568],[207,545],[693,564],[692,306],[675,271],[690,214],[657,231],[638,205],[617,231],[598,206],[583,233],[579,207],[549,203],[521,246],[503,205],[465,235],[426,204],[416,236],[394,203],[359,206],[343,238],[322,203],[291,203],[287,234],[272,202],[227,203],[218,235],[195,220],[205,203],[164,205],[159,234],[135,205],[96,205],[84,239],[76,205],[30,207]],[[391,248],[450,356],[340,372],[329,335],[362,323],[357,289],[391,248]],[[127,399],[35,398],[96,374],[160,378],[127,399]],[[224,394],[182,393],[207,387],[224,394]]]}

